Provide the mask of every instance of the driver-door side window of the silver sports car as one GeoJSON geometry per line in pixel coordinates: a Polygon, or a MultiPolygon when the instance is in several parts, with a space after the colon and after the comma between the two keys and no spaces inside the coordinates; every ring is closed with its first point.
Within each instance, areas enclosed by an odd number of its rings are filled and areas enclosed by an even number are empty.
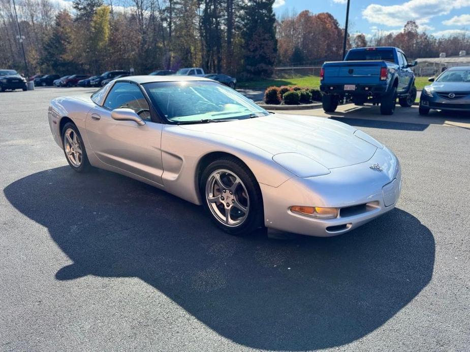
{"type": "Polygon", "coordinates": [[[110,110],[132,109],[142,120],[150,120],[147,100],[140,88],[129,82],[117,82],[106,97],[104,106],[110,110]]]}

